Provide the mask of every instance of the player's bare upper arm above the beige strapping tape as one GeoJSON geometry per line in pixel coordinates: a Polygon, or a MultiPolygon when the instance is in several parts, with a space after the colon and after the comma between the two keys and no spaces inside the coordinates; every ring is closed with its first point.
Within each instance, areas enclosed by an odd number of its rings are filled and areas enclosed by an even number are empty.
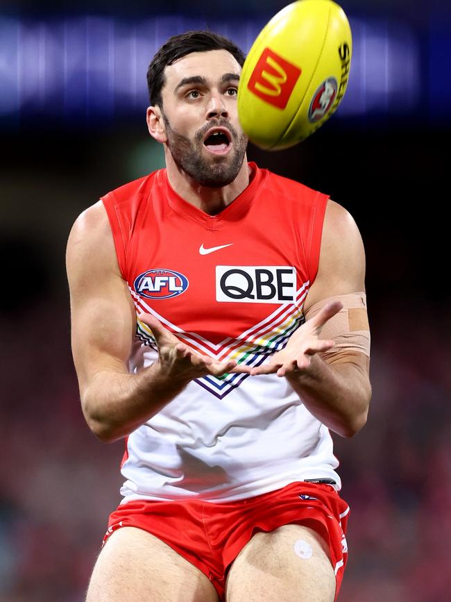
{"type": "Polygon", "coordinates": [[[364,290],[365,251],[359,228],[345,208],[328,201],[318,274],[305,299],[304,312],[331,296],[364,290]]]}

